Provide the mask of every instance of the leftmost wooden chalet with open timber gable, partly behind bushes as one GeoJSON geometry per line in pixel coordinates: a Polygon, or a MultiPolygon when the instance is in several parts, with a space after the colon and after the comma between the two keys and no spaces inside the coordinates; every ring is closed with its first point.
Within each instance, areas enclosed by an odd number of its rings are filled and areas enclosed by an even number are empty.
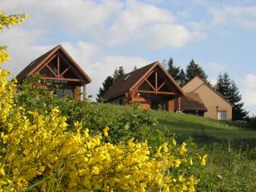
{"type": "MultiPolygon", "coordinates": [[[[86,84],[91,80],[61,45],[30,62],[17,75],[18,84],[35,74],[39,74],[40,78],[50,80],[54,86],[57,86],[56,94],[59,97],[68,94],[70,97],[80,100],[82,87],[83,99],[86,99],[86,84]]],[[[45,87],[41,82],[38,82],[36,86],[45,87]]]]}

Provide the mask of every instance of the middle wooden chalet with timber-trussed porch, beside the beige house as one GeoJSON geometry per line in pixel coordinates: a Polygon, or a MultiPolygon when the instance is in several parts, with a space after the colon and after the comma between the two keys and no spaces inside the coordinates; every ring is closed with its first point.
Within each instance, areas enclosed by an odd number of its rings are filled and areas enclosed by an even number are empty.
{"type": "Polygon", "coordinates": [[[124,106],[140,102],[142,109],[174,111],[175,99],[178,101],[177,110],[181,110],[181,97],[184,96],[180,86],[160,62],[154,62],[124,74],[102,98],[124,106]]]}

